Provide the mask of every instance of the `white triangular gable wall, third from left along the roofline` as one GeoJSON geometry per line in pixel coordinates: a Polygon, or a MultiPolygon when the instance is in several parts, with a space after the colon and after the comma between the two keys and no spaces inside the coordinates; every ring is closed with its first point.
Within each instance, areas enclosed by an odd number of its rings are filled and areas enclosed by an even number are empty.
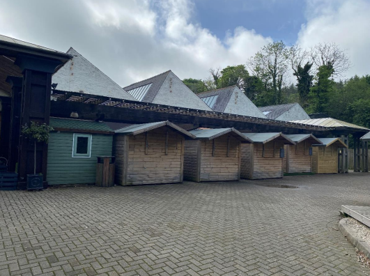
{"type": "Polygon", "coordinates": [[[229,103],[225,107],[225,113],[267,118],[238,87],[233,91],[229,103]]]}

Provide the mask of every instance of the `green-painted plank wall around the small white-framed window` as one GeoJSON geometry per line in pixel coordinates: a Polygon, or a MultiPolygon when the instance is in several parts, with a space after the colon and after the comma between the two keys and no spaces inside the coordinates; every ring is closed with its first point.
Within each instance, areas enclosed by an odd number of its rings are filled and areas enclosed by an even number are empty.
{"type": "Polygon", "coordinates": [[[91,158],[72,158],[73,132],[50,133],[47,151],[49,185],[95,183],[98,156],[111,156],[113,135],[93,134],[91,158]]]}

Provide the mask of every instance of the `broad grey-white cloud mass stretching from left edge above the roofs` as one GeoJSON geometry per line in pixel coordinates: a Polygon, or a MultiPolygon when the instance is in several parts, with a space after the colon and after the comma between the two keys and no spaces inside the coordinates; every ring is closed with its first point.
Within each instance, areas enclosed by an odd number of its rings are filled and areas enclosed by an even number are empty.
{"type": "Polygon", "coordinates": [[[205,78],[272,41],[245,27],[218,38],[192,21],[193,12],[192,0],[13,0],[2,3],[0,33],[61,51],[72,46],[121,86],[169,69],[205,78]]]}

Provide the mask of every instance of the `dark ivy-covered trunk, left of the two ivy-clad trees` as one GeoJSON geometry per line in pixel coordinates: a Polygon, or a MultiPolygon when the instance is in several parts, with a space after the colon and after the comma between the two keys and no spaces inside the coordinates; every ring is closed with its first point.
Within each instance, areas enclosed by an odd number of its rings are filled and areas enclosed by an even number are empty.
{"type": "Polygon", "coordinates": [[[293,72],[293,75],[297,78],[298,83],[296,85],[298,88],[298,93],[300,95],[299,102],[303,108],[307,107],[309,91],[311,89],[312,81],[314,79],[314,76],[309,73],[311,67],[312,63],[309,62],[307,62],[303,67],[300,64],[298,64],[298,67],[296,68],[295,72],[293,72]]]}

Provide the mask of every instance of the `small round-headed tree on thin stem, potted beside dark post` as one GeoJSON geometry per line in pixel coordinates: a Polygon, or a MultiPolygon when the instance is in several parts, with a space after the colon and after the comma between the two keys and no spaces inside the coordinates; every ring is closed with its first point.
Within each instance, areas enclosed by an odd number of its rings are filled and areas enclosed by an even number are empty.
{"type": "Polygon", "coordinates": [[[35,146],[34,150],[34,162],[33,162],[33,174],[36,174],[36,144],[40,142],[47,143],[49,141],[49,132],[54,130],[51,126],[46,123],[31,122],[31,125],[22,126],[22,135],[33,141],[35,146]]]}

